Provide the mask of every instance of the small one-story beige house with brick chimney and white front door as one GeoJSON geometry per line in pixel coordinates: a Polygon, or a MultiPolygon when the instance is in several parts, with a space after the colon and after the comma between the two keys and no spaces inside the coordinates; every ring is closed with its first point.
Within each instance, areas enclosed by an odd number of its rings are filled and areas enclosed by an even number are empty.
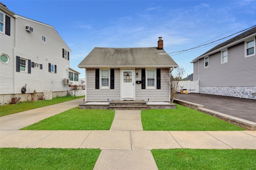
{"type": "Polygon", "coordinates": [[[95,47],[78,67],[85,68],[86,102],[169,101],[163,76],[178,64],[164,51],[159,37],[158,47],[95,47]]]}

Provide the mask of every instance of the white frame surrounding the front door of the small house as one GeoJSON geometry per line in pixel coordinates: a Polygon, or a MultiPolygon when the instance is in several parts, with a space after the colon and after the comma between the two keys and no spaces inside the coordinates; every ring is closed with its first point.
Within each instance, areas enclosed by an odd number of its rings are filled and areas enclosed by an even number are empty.
{"type": "Polygon", "coordinates": [[[121,85],[121,88],[120,88],[120,92],[121,92],[121,94],[120,94],[120,97],[121,97],[121,100],[135,100],[135,69],[126,69],[126,68],[124,68],[124,69],[121,69],[121,72],[120,72],[120,85],[121,85]],[[124,75],[123,75],[123,72],[124,71],[131,71],[132,72],[132,86],[133,86],[133,95],[131,95],[130,97],[127,97],[127,96],[124,96],[124,90],[122,90],[123,89],[123,86],[124,86],[124,75]]]}

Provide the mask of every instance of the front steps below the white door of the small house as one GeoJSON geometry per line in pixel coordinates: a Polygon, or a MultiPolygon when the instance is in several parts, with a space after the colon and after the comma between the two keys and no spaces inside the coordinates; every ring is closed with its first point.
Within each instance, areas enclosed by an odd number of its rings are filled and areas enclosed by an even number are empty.
{"type": "Polygon", "coordinates": [[[111,100],[109,103],[110,110],[146,110],[146,102],[144,100],[111,100]]]}

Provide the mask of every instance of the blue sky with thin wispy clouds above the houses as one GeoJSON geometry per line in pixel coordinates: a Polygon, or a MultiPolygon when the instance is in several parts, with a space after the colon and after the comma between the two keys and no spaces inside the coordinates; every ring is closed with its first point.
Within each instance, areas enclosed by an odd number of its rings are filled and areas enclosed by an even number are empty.
{"type": "Polygon", "coordinates": [[[158,37],[163,37],[164,50],[172,59],[191,74],[193,59],[227,39],[183,53],[173,52],[256,25],[254,0],[1,2],[20,16],[52,25],[72,50],[70,67],[81,73],[80,78],[85,77],[85,71],[78,64],[94,47],[157,47],[158,37]]]}

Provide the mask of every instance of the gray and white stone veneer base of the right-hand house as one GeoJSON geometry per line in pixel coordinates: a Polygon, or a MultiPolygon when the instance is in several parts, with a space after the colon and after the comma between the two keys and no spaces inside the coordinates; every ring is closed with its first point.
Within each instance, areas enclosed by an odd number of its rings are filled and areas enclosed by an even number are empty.
{"type": "Polygon", "coordinates": [[[256,100],[256,86],[221,86],[221,87],[199,87],[199,93],[230,96],[256,100]]]}

